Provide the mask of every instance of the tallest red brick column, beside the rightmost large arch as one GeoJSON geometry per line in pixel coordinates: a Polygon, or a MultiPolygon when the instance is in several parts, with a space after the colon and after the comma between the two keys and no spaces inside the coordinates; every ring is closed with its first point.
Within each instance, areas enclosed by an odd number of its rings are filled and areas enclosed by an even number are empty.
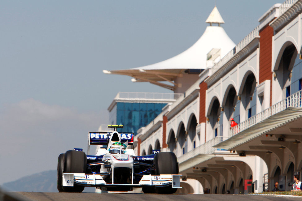
{"type": "Polygon", "coordinates": [[[272,37],[274,29],[266,25],[259,31],[259,84],[265,80],[270,80],[269,105],[272,106],[272,37]]]}

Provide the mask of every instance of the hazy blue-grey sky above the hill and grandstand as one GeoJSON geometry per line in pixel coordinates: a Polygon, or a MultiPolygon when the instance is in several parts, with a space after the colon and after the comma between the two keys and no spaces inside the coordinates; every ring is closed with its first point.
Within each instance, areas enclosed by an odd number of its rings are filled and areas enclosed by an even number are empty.
{"type": "MultiPolygon", "coordinates": [[[[275,0],[217,0],[237,44],[275,0]]],[[[104,75],[163,61],[193,45],[215,1],[1,1],[0,184],[56,169],[86,150],[118,92],[171,92],[104,75]],[[7,165],[13,161],[22,165],[7,165]]]]}

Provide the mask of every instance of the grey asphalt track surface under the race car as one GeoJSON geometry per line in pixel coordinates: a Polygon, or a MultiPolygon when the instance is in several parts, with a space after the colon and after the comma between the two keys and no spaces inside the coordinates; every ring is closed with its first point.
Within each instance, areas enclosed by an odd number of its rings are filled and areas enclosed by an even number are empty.
{"type": "MultiPolygon", "coordinates": [[[[130,193],[37,193],[37,192],[9,192],[10,196],[2,200],[131,200],[131,201],[154,201],[154,200],[263,200],[263,201],[286,201],[302,200],[301,196],[280,195],[213,195],[213,194],[130,194],[130,193]]],[[[1,198],[0,198],[1,200],[1,198]]]]}

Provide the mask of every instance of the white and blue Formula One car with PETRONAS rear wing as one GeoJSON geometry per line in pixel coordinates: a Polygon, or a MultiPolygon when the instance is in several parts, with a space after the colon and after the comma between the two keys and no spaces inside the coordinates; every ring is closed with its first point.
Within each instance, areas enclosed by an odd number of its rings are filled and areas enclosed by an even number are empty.
{"type": "Polygon", "coordinates": [[[134,133],[118,133],[120,125],[110,125],[112,133],[88,132],[88,155],[82,149],[60,154],[57,188],[59,192],[82,192],[85,186],[107,191],[129,191],[141,187],[144,193],[175,193],[180,187],[177,158],[173,152],[135,156],[134,133]],[[90,145],[107,145],[89,155],[90,145]],[[130,148],[128,148],[130,147],[130,148]]]}

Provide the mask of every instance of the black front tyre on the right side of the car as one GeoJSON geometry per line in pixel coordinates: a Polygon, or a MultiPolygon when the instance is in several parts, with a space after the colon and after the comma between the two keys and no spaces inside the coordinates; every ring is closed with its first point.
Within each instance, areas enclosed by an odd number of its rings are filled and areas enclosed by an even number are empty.
{"type": "MultiPolygon", "coordinates": [[[[173,152],[159,152],[154,156],[155,174],[178,174],[177,157],[173,152]]],[[[155,187],[157,193],[172,194],[177,188],[171,186],[155,187]]]]}

